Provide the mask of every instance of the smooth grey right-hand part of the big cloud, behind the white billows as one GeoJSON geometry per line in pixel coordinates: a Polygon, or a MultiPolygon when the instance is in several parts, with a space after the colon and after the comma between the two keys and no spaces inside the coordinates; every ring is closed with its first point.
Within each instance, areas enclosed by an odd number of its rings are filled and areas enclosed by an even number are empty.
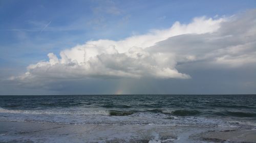
{"type": "Polygon", "coordinates": [[[151,52],[175,53],[180,64],[204,62],[203,66],[240,67],[256,63],[256,13],[226,18],[213,33],[170,37],[148,48],[151,52]]]}

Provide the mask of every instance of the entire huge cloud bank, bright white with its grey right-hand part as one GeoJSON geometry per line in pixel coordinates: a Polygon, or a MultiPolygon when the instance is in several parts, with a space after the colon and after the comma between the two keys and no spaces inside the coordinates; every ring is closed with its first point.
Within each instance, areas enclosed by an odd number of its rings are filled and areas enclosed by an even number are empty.
{"type": "MultiPolygon", "coordinates": [[[[87,78],[191,78],[177,65],[237,68],[256,63],[256,11],[222,18],[196,17],[120,41],[87,41],[62,50],[59,58],[29,65],[13,81],[44,85],[87,78]]],[[[200,69],[197,69],[200,70],[200,69]]]]}

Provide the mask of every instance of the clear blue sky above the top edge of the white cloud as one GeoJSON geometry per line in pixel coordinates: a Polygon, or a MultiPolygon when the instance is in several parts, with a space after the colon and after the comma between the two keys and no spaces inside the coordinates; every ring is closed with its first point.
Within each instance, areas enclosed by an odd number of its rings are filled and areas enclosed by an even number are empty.
{"type": "MultiPolygon", "coordinates": [[[[195,17],[230,17],[255,7],[256,1],[249,0],[0,1],[0,77],[23,74],[27,66],[47,61],[48,53],[60,58],[60,51],[90,40],[119,41],[151,30],[165,30],[175,21],[188,24],[195,17]]],[[[9,83],[5,86],[11,87],[9,83]]]]}

